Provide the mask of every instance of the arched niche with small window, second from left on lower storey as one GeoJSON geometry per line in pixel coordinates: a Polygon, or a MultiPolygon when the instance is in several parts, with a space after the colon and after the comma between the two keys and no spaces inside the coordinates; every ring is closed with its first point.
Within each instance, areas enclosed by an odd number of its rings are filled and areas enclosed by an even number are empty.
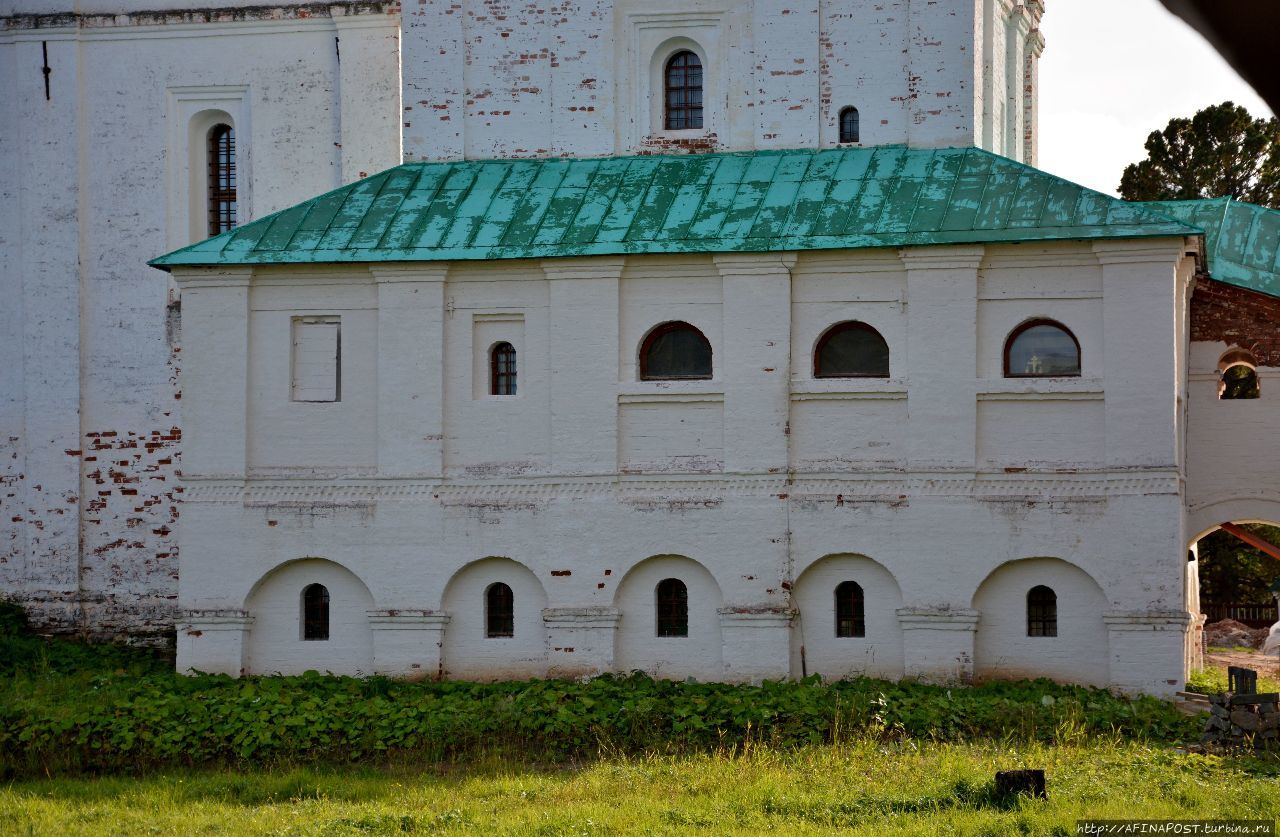
{"type": "MultiPolygon", "coordinates": [[[[458,680],[524,680],[547,673],[547,591],[532,571],[511,558],[483,558],[462,567],[444,587],[442,666],[458,680]],[[511,587],[511,636],[490,636],[490,587],[511,587]]],[[[500,631],[504,632],[504,631],[500,631]]]]}

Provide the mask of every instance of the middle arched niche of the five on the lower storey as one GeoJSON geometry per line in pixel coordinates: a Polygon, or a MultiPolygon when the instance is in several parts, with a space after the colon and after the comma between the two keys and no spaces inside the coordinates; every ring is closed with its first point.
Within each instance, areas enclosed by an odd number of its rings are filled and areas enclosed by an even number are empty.
{"type": "Polygon", "coordinates": [[[622,614],[613,640],[617,671],[639,669],[668,680],[721,678],[722,596],[707,567],[684,555],[646,558],[627,571],[613,602],[622,614]],[[658,635],[658,585],[667,578],[682,581],[687,590],[689,636],[658,635]]]}

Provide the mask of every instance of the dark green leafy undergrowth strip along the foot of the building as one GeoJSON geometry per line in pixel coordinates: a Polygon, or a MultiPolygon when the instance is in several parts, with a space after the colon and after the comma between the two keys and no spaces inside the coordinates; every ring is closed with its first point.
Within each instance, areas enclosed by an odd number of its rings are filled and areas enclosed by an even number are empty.
{"type": "MultiPolygon", "coordinates": [[[[0,612],[0,617],[3,617],[0,612]]],[[[0,777],[197,765],[564,763],[856,737],[1180,741],[1199,722],[1152,698],[1050,681],[945,689],[859,678],[760,686],[655,681],[471,683],[180,677],[155,654],[27,636],[0,619],[0,777]],[[9,654],[8,651],[13,651],[9,654]],[[17,660],[17,662],[15,662],[17,660]]]]}

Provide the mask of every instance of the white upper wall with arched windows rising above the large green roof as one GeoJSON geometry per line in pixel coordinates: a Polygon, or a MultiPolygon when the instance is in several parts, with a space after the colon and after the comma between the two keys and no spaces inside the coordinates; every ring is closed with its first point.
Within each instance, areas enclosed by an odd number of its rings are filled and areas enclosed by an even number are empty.
{"type": "Polygon", "coordinates": [[[977,145],[1036,154],[1037,1],[424,0],[404,8],[412,160],[977,145]],[[662,68],[703,63],[704,128],[666,131],[662,68]]]}

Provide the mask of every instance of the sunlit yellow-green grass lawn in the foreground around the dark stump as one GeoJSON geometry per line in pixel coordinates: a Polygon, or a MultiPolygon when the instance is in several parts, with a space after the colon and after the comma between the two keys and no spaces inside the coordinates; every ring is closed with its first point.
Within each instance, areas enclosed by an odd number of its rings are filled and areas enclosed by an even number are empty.
{"type": "Polygon", "coordinates": [[[1280,817],[1280,764],[1084,740],[858,740],[795,750],[500,758],[420,769],[166,772],[0,787],[0,833],[1074,834],[1079,818],[1280,817]],[[1044,768],[1048,800],[992,799],[997,769],[1044,768]]]}

